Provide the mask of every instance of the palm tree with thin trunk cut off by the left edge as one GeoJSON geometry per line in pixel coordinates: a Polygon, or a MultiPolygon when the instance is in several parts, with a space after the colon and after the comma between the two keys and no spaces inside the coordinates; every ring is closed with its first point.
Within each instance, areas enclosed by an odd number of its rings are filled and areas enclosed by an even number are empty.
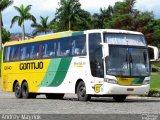
{"type": "Polygon", "coordinates": [[[9,7],[13,0],[0,0],[0,51],[2,49],[2,11],[9,7]]]}

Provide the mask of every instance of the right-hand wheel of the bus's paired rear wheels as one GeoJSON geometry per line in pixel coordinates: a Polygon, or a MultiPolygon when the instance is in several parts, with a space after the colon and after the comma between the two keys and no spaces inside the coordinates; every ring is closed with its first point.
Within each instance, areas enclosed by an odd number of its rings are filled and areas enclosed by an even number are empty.
{"type": "Polygon", "coordinates": [[[24,99],[30,98],[29,90],[28,90],[28,83],[24,82],[22,84],[22,97],[24,99]]]}

